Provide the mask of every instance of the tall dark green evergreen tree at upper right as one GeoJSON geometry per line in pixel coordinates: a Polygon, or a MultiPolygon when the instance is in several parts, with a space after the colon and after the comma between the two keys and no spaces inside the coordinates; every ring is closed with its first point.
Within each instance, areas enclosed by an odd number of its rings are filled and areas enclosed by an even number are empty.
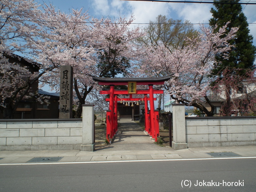
{"type": "Polygon", "coordinates": [[[249,34],[248,22],[246,16],[242,12],[241,4],[238,3],[239,0],[229,0],[230,4],[218,4],[222,0],[214,0],[215,8],[211,8],[212,18],[210,19],[210,26],[214,28],[216,25],[216,32],[227,22],[228,33],[232,27],[239,27],[236,33],[236,39],[230,40],[230,44],[234,47],[228,52],[229,57],[224,58],[223,55],[217,55],[217,62],[215,68],[212,71],[212,75],[220,76],[221,72],[226,68],[234,68],[239,70],[234,70],[234,73],[244,74],[244,70],[241,69],[254,69],[254,60],[256,56],[256,47],[252,44],[253,37],[249,34]]]}

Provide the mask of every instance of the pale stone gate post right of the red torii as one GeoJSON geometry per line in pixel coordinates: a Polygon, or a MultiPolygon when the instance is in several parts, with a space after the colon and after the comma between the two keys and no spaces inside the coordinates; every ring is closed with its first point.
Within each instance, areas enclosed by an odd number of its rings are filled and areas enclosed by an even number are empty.
{"type": "Polygon", "coordinates": [[[174,150],[186,149],[185,104],[172,105],[173,141],[174,150]]]}

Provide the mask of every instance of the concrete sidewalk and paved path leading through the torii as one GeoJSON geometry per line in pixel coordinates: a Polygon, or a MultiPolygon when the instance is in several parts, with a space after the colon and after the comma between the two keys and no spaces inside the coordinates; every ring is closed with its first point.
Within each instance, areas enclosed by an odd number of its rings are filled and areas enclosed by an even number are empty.
{"type": "Polygon", "coordinates": [[[203,147],[173,150],[169,147],[160,147],[154,144],[144,130],[131,120],[121,120],[118,134],[114,142],[104,148],[96,148],[94,152],[80,150],[48,150],[48,151],[0,151],[0,164],[28,163],[33,158],[35,162],[54,162],[54,158],[60,158],[58,162],[99,162],[99,161],[132,161],[132,160],[167,160],[190,158],[220,158],[228,157],[226,152],[242,157],[255,157],[256,146],[232,146],[232,147],[203,147]],[[224,153],[222,153],[224,152],[224,153]],[[211,153],[211,154],[207,154],[211,153]],[[42,157],[40,160],[39,157],[42,157]],[[45,158],[48,159],[45,159],[45,158]]]}

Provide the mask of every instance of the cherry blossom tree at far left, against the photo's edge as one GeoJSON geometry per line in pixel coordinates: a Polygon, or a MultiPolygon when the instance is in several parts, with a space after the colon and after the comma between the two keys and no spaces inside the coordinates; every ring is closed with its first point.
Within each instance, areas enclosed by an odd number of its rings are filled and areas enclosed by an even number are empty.
{"type": "Polygon", "coordinates": [[[54,68],[31,59],[36,46],[30,40],[36,39],[40,28],[29,21],[37,20],[40,15],[38,5],[32,0],[0,2],[0,109],[4,118],[13,118],[18,103],[24,97],[35,96],[29,92],[30,88],[38,83],[42,74],[54,68]],[[31,66],[22,66],[15,59],[31,66]]]}

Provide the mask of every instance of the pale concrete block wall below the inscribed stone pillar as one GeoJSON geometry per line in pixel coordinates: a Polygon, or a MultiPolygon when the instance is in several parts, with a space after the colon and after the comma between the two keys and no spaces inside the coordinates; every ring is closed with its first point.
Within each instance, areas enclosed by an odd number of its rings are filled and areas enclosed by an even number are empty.
{"type": "Polygon", "coordinates": [[[0,120],[0,150],[80,149],[82,119],[0,120]]]}

